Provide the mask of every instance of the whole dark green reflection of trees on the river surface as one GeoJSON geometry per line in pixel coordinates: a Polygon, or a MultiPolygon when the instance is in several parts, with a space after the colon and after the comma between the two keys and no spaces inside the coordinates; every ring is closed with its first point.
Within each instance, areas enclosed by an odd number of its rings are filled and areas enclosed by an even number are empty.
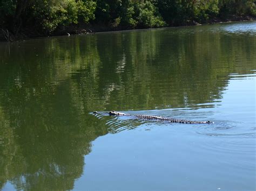
{"type": "Polygon", "coordinates": [[[72,189],[92,140],[108,133],[89,111],[196,107],[253,68],[255,37],[183,30],[0,47],[0,187],[72,189]]]}

